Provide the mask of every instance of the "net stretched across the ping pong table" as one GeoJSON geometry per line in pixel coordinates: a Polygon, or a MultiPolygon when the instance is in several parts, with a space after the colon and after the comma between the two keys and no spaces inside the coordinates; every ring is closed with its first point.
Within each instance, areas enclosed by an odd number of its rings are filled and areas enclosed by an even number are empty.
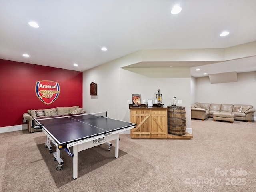
{"type": "Polygon", "coordinates": [[[68,115],[60,115],[60,116],[49,116],[49,117],[40,117],[34,118],[32,120],[32,128],[41,129],[42,126],[47,126],[50,124],[64,124],[76,121],[83,121],[86,119],[92,118],[102,118],[107,117],[107,112],[99,112],[99,113],[91,113],[91,114],[68,114],[68,115]]]}

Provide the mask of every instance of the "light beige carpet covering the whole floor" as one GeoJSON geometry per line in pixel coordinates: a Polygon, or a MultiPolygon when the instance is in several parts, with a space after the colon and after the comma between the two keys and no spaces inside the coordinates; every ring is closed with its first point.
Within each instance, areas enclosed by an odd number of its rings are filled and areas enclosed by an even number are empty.
{"type": "MultiPolygon", "coordinates": [[[[119,158],[100,145],[72,158],[63,170],[44,148],[43,132],[0,134],[2,192],[254,192],[256,123],[192,120],[190,140],[131,139],[120,134],[119,158]]],[[[54,149],[55,150],[55,149],[54,149]]],[[[53,150],[53,151],[54,151],[53,150]]]]}

